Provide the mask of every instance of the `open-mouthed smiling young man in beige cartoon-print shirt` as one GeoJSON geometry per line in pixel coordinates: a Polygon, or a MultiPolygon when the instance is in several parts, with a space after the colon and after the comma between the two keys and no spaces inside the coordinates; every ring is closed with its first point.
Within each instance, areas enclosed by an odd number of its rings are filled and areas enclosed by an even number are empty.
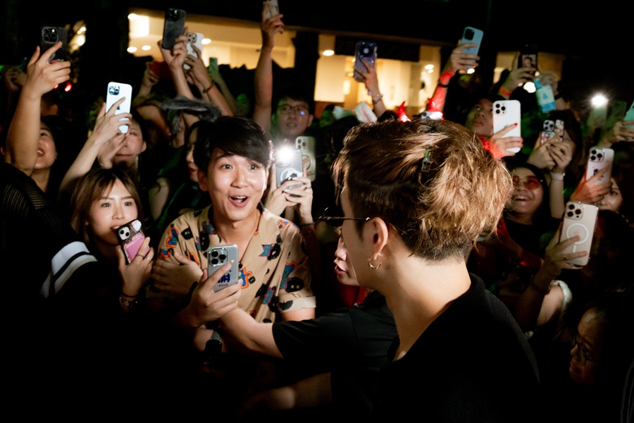
{"type": "MultiPolygon", "coordinates": [[[[178,253],[181,260],[196,262],[199,269],[187,279],[189,286],[207,269],[209,247],[235,244],[242,288],[238,307],[256,321],[309,319],[315,316],[316,300],[302,233],[261,207],[271,149],[261,128],[248,118],[222,116],[202,123],[194,162],[211,205],[170,223],[159,242],[159,256],[181,264],[174,256],[178,253]]],[[[191,271],[191,266],[177,266],[175,271],[186,270],[180,268],[191,271]]],[[[178,295],[178,301],[183,298],[178,295]]],[[[181,324],[197,326],[199,322],[192,323],[189,317],[188,310],[182,310],[181,324]]]]}

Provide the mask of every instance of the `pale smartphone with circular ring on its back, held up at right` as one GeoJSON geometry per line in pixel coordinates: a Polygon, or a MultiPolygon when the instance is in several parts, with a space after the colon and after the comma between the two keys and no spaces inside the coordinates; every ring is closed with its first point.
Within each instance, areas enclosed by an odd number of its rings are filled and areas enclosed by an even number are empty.
{"type": "MultiPolygon", "coordinates": [[[[566,211],[564,212],[564,223],[559,233],[559,242],[579,235],[578,240],[562,252],[566,255],[571,252],[587,251],[590,254],[592,246],[592,237],[595,234],[595,226],[597,226],[597,218],[599,216],[599,207],[595,204],[586,204],[578,201],[569,201],[566,203],[566,211]]],[[[585,266],[588,264],[589,256],[569,259],[566,262],[576,264],[577,266],[585,266]]]]}

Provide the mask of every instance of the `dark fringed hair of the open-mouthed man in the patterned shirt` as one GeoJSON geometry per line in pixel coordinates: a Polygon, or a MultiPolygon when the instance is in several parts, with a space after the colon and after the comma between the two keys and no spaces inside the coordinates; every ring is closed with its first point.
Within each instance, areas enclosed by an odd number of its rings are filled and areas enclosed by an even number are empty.
{"type": "Polygon", "coordinates": [[[214,149],[247,157],[268,168],[273,161],[273,144],[262,128],[242,116],[220,116],[217,121],[199,121],[194,145],[194,163],[206,171],[214,149]]]}

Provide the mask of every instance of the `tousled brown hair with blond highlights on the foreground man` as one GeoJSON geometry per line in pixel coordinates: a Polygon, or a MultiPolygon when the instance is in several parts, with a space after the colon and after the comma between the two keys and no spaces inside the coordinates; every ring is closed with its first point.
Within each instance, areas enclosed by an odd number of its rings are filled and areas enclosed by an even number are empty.
{"type": "Polygon", "coordinates": [[[434,260],[466,257],[480,233],[495,233],[512,189],[471,130],[433,119],[355,126],[332,171],[354,216],[384,219],[413,255],[434,260]]]}

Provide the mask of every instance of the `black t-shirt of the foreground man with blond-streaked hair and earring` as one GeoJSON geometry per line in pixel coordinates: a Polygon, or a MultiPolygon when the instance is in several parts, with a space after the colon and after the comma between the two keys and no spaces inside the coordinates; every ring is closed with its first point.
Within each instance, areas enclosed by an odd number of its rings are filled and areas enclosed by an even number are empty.
{"type": "MultiPolygon", "coordinates": [[[[394,357],[398,340],[390,347],[394,357]]],[[[373,420],[537,422],[537,364],[509,310],[471,274],[471,288],[380,372],[373,420]]]]}

